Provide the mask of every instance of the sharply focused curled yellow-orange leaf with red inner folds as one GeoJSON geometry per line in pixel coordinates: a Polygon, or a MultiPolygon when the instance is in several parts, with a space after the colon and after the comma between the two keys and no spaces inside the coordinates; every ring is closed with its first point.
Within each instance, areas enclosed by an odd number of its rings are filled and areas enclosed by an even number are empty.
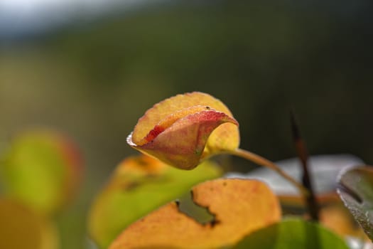
{"type": "Polygon", "coordinates": [[[131,147],[180,169],[239,146],[238,123],[229,109],[202,92],[176,95],[154,105],[127,138],[131,147]]]}

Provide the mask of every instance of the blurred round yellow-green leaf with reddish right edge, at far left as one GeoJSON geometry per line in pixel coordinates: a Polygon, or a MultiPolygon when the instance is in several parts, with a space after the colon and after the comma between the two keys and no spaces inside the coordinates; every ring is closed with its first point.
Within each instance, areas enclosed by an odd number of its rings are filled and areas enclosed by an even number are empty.
{"type": "Polygon", "coordinates": [[[33,130],[13,139],[0,165],[6,196],[36,211],[59,211],[77,192],[82,159],[67,137],[33,130]]]}

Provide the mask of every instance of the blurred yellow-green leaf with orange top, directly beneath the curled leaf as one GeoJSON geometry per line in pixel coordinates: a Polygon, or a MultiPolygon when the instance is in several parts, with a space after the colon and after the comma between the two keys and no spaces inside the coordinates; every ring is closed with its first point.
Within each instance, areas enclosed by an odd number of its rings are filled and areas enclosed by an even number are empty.
{"type": "Polygon", "coordinates": [[[210,161],[193,171],[182,171],[146,155],[129,157],[94,200],[88,220],[90,235],[101,248],[107,248],[134,221],[221,174],[210,161]]]}

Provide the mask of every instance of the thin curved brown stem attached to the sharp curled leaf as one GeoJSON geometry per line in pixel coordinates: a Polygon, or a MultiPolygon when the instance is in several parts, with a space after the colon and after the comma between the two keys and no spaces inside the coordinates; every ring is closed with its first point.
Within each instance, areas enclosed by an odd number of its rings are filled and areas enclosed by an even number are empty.
{"type": "Polygon", "coordinates": [[[291,184],[296,186],[298,191],[301,192],[301,194],[303,194],[303,196],[308,196],[309,195],[308,189],[306,189],[302,184],[300,184],[298,181],[296,181],[296,179],[293,179],[293,177],[286,174],[286,172],[283,171],[279,166],[274,164],[274,162],[269,161],[268,159],[265,159],[264,157],[261,157],[258,154],[248,152],[247,150],[244,150],[244,149],[236,149],[236,150],[233,150],[233,151],[228,151],[227,153],[232,154],[232,155],[237,156],[237,157],[242,157],[242,158],[247,159],[249,161],[252,161],[256,164],[259,164],[260,166],[266,166],[267,168],[276,171],[281,176],[283,176],[284,179],[286,179],[291,184]]]}

